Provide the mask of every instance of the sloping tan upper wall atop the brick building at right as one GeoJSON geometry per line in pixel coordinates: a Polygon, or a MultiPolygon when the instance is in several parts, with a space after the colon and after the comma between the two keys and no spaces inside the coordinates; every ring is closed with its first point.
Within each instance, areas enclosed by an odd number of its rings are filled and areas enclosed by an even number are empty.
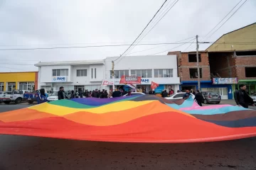
{"type": "Polygon", "coordinates": [[[240,30],[235,30],[232,33],[223,35],[219,40],[210,45],[208,52],[213,51],[240,51],[240,50],[256,50],[256,23],[241,28],[240,30]],[[218,42],[225,42],[226,44],[218,44],[218,42]],[[253,43],[253,44],[237,44],[238,43],[253,43]],[[233,47],[232,47],[233,45],[233,47]]]}

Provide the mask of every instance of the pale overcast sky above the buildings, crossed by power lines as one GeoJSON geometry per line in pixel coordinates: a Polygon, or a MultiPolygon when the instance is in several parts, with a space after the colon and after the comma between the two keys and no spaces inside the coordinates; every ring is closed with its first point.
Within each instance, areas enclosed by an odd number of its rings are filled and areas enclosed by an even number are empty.
{"type": "MultiPolygon", "coordinates": [[[[166,2],[164,11],[173,1],[166,2]]],[[[195,35],[203,39],[239,1],[179,0],[140,43],[176,42],[195,35]]],[[[0,48],[131,44],[163,3],[164,0],[0,0],[0,48]]],[[[255,23],[255,16],[256,1],[248,0],[208,41],[255,23]]],[[[169,49],[183,51],[188,45],[139,45],[130,53],[166,55],[169,49]],[[153,47],[156,48],[148,50],[153,47]],[[145,51],[139,52],[142,50],[145,51]]],[[[200,50],[208,46],[200,45],[200,50]]],[[[0,72],[37,71],[33,65],[21,64],[39,61],[104,59],[121,55],[127,47],[1,50],[0,72]]],[[[196,50],[195,47],[191,45],[187,50],[196,50]]]]}

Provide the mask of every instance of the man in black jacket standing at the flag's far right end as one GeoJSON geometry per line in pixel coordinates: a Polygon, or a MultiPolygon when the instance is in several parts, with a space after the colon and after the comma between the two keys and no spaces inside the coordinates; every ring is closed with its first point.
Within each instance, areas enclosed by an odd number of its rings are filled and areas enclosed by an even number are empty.
{"type": "Polygon", "coordinates": [[[255,104],[253,103],[253,99],[245,91],[245,84],[241,84],[239,88],[240,90],[235,91],[234,93],[235,103],[237,103],[238,106],[242,106],[244,108],[248,108],[249,104],[255,106],[255,104]]]}

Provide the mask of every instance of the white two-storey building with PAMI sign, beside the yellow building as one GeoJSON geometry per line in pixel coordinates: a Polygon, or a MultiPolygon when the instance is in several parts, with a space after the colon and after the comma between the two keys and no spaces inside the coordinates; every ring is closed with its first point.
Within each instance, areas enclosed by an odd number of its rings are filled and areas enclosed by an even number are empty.
{"type": "Polygon", "coordinates": [[[58,91],[60,86],[65,91],[84,91],[100,89],[105,77],[105,60],[88,60],[72,62],[39,62],[38,88],[58,91]]]}

